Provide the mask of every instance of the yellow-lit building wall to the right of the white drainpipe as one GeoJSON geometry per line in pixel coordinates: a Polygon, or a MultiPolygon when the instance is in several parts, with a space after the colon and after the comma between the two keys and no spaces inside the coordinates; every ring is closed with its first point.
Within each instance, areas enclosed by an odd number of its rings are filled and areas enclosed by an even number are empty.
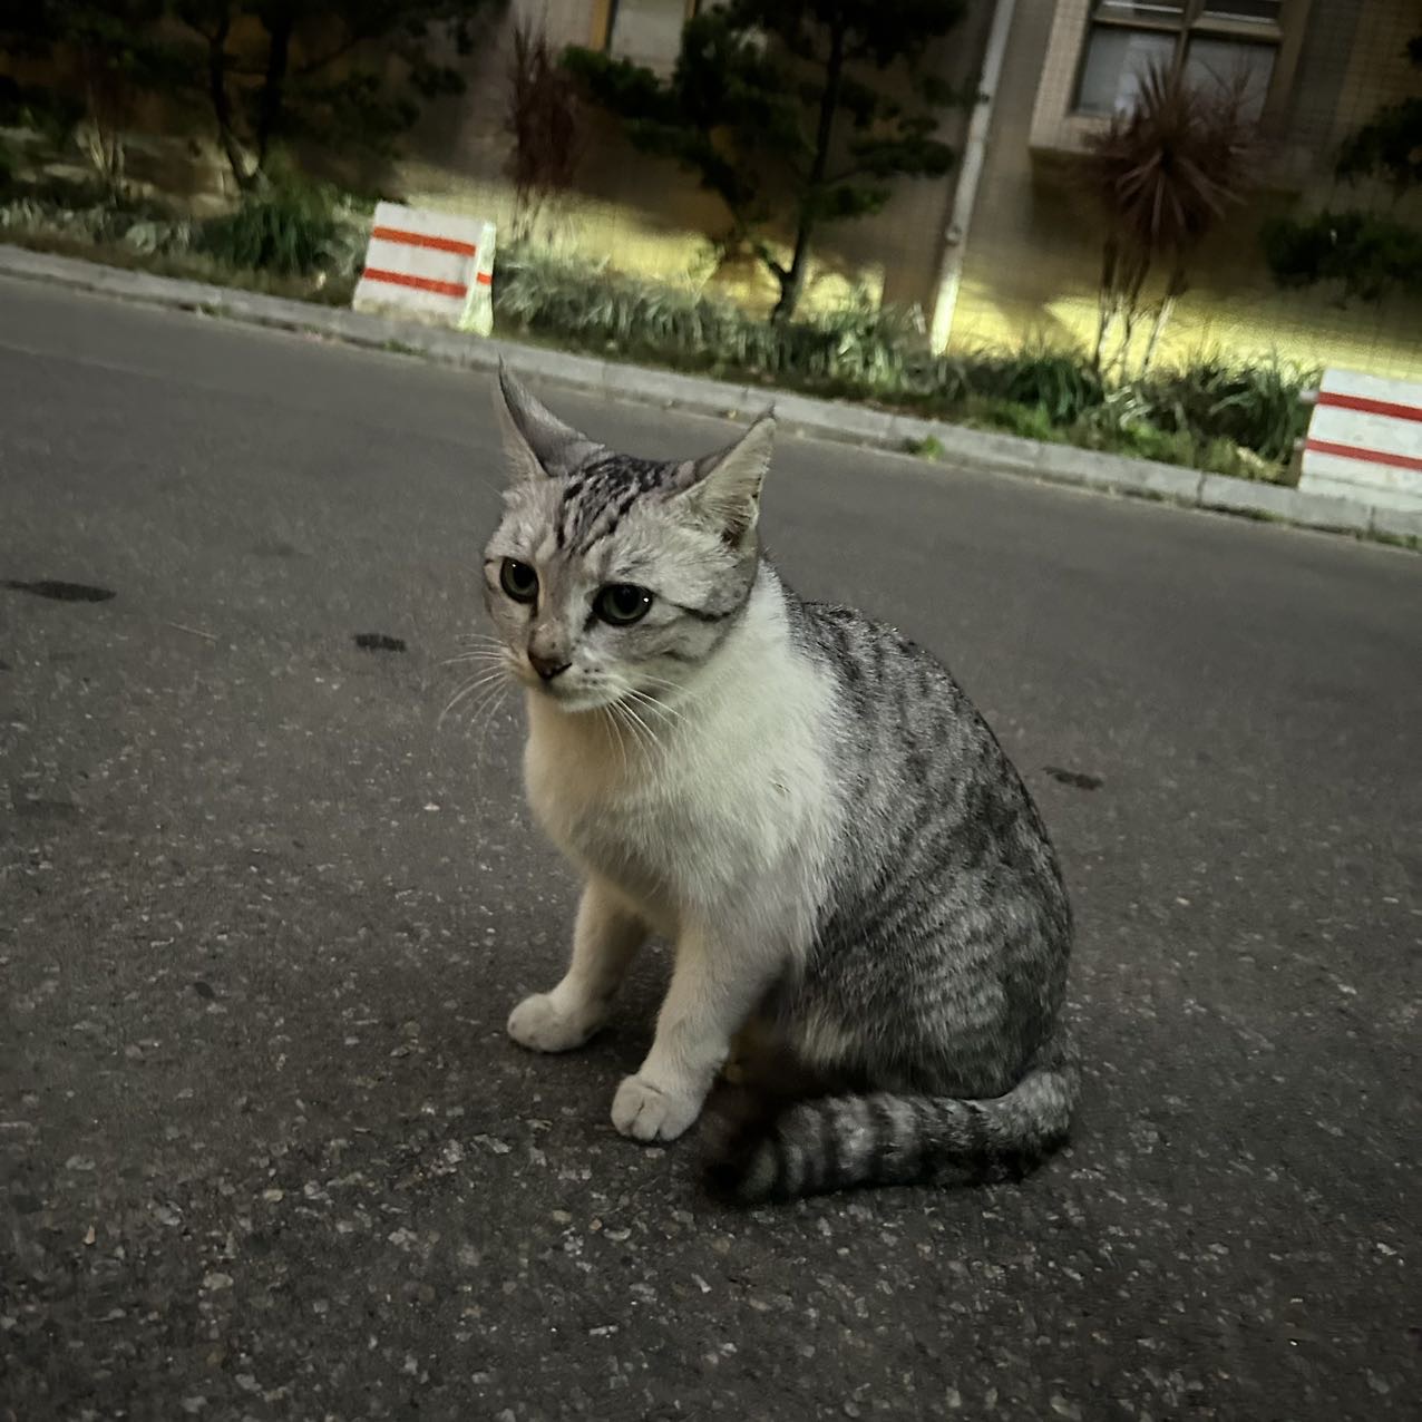
{"type": "MultiPolygon", "coordinates": [[[[1094,337],[1099,228],[1074,191],[1069,162],[1041,156],[1041,114],[1069,102],[1088,11],[1086,0],[1017,6],[968,235],[954,348],[1038,337],[1085,346],[1094,337]],[[1062,51],[1064,43],[1074,48],[1062,51]]],[[[1314,0],[1293,81],[1274,114],[1276,191],[1233,213],[1199,253],[1192,290],[1165,343],[1166,361],[1278,354],[1422,380],[1422,306],[1344,306],[1318,290],[1280,292],[1258,247],[1258,228],[1271,213],[1384,201],[1337,182],[1332,162],[1340,141],[1379,104],[1416,92],[1405,44],[1419,28],[1416,0],[1314,0]]],[[[1418,201],[1409,199],[1412,210],[1418,201]]]]}

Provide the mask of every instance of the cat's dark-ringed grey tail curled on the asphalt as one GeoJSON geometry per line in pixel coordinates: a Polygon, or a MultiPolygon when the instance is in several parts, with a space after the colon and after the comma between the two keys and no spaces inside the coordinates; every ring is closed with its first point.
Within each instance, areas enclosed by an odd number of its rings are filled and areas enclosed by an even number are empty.
{"type": "Polygon", "coordinates": [[[823,1096],[724,1139],[711,1187],[741,1204],[869,1185],[1021,1179],[1065,1142],[1081,1071],[1065,1031],[1004,1096],[823,1096]]]}

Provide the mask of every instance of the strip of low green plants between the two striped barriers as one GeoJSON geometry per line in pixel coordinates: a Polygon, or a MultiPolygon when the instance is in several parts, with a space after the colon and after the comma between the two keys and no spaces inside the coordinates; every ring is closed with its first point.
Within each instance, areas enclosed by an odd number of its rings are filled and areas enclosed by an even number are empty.
{"type": "Polygon", "coordinates": [[[493,304],[501,326],[566,346],[1243,478],[1283,476],[1307,425],[1300,392],[1317,383],[1317,373],[1278,360],[1213,358],[1112,384],[1079,350],[933,356],[907,316],[867,300],[769,323],[722,297],[509,247],[493,304]]]}

